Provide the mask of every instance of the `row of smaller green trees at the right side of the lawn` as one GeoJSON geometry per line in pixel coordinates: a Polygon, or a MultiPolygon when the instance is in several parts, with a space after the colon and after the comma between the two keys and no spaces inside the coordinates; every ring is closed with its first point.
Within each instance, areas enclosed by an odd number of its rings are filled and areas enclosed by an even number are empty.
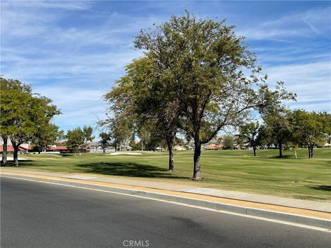
{"type": "Polygon", "coordinates": [[[314,157],[314,147],[330,142],[331,114],[305,110],[283,110],[263,116],[263,125],[246,123],[239,127],[239,141],[249,143],[256,156],[258,147],[278,147],[279,157],[283,149],[292,149],[297,158],[298,147],[308,148],[308,158],[314,157]]]}

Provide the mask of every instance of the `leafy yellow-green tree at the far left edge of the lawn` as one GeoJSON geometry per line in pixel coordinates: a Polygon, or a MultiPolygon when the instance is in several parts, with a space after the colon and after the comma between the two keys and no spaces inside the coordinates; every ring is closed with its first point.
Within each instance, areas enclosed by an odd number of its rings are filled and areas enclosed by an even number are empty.
{"type": "Polygon", "coordinates": [[[19,146],[32,141],[41,126],[48,125],[57,114],[60,111],[52,100],[33,94],[30,85],[1,78],[1,136],[3,140],[10,138],[13,165],[19,165],[19,146]]]}

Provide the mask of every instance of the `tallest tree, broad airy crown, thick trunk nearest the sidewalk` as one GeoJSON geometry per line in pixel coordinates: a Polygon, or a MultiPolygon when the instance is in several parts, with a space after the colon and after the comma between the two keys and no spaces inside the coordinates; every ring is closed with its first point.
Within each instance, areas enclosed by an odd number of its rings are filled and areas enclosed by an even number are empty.
{"type": "Polygon", "coordinates": [[[179,103],[179,126],[194,139],[192,179],[201,179],[203,143],[223,127],[241,123],[248,110],[292,98],[281,83],[268,90],[256,57],[225,20],[196,19],[186,12],[141,30],[134,42],[152,61],[152,75],[162,79],[170,100],[179,103]]]}

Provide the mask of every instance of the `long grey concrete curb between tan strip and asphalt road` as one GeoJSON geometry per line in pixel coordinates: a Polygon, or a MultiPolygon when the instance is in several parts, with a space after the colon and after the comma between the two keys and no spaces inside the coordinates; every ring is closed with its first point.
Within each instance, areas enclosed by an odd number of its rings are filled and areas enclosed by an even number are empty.
{"type": "Polygon", "coordinates": [[[255,216],[260,218],[268,218],[272,220],[281,220],[289,223],[297,223],[301,225],[308,225],[312,227],[321,227],[325,229],[331,229],[331,220],[323,218],[313,218],[308,216],[301,216],[296,214],[287,214],[279,211],[270,211],[265,209],[257,209],[252,207],[241,207],[238,205],[230,205],[225,203],[215,203],[208,200],[198,200],[194,198],[187,198],[183,196],[173,196],[170,194],[161,194],[155,192],[148,192],[138,189],[126,189],[121,187],[112,187],[112,186],[101,186],[94,185],[92,183],[76,183],[68,182],[66,180],[57,180],[57,179],[48,179],[48,178],[36,178],[33,176],[21,176],[21,175],[10,175],[10,174],[1,174],[3,177],[12,177],[12,178],[21,178],[21,179],[30,179],[37,180],[40,182],[46,183],[57,183],[61,185],[76,186],[76,187],[86,187],[89,189],[99,189],[110,193],[119,193],[119,194],[129,194],[132,196],[143,196],[146,198],[152,198],[157,200],[166,200],[174,203],[181,203],[186,205],[193,205],[197,207],[205,207],[214,210],[228,211],[236,214],[243,214],[247,216],[255,216]]]}

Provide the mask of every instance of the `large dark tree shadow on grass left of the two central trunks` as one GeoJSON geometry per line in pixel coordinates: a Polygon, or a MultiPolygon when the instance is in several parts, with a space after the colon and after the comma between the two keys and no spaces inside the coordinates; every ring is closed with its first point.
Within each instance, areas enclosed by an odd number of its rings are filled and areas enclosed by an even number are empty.
{"type": "MultiPolygon", "coordinates": [[[[139,163],[88,163],[77,165],[88,169],[87,172],[98,173],[112,176],[134,176],[146,178],[185,178],[183,176],[174,176],[168,169],[152,165],[142,165],[139,163]]],[[[84,170],[85,171],[85,170],[84,170]]]]}

